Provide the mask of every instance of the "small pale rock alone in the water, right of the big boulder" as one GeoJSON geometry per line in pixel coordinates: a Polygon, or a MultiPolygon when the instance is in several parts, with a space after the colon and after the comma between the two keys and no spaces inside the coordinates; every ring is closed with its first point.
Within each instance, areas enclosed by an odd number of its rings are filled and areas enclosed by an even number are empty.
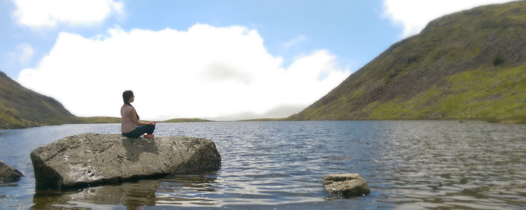
{"type": "Polygon", "coordinates": [[[356,173],[323,175],[323,188],[344,196],[369,195],[371,192],[367,182],[356,173]]]}

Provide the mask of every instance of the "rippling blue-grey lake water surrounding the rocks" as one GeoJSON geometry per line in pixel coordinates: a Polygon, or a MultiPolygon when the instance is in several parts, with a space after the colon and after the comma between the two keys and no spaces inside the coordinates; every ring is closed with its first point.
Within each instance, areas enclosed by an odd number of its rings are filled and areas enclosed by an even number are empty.
{"type": "Polygon", "coordinates": [[[0,185],[0,209],[526,208],[526,125],[451,120],[159,123],[158,136],[213,140],[221,168],[35,193],[31,151],[69,135],[119,130],[120,124],[0,130],[0,161],[25,175],[0,185]],[[321,181],[328,173],[359,173],[371,194],[327,194],[321,181]]]}

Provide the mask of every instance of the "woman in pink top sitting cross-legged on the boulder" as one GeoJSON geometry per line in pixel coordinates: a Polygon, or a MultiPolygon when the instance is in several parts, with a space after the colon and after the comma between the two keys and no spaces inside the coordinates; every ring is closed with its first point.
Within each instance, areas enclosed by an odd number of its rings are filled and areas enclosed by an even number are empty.
{"type": "Polygon", "coordinates": [[[131,102],[135,96],[131,90],[123,92],[123,107],[120,108],[120,132],[126,137],[137,138],[144,134],[145,138],[154,138],[155,124],[157,122],[141,122],[131,102]],[[145,134],[146,133],[146,134],[145,134]]]}

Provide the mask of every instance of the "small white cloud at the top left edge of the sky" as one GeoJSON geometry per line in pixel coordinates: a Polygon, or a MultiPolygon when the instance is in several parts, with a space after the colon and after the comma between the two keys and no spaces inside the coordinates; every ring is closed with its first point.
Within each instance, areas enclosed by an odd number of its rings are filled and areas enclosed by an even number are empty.
{"type": "Polygon", "coordinates": [[[102,22],[112,12],[122,13],[123,3],[113,0],[13,0],[19,24],[54,27],[57,23],[86,25],[102,22]]]}

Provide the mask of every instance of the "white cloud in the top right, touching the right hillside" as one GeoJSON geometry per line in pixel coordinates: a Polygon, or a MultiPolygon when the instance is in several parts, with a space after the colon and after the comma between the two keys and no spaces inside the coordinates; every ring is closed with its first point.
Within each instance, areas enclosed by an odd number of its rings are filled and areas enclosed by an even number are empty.
{"type": "Polygon", "coordinates": [[[420,33],[433,19],[476,6],[511,0],[384,0],[384,14],[403,26],[403,37],[420,33]]]}

